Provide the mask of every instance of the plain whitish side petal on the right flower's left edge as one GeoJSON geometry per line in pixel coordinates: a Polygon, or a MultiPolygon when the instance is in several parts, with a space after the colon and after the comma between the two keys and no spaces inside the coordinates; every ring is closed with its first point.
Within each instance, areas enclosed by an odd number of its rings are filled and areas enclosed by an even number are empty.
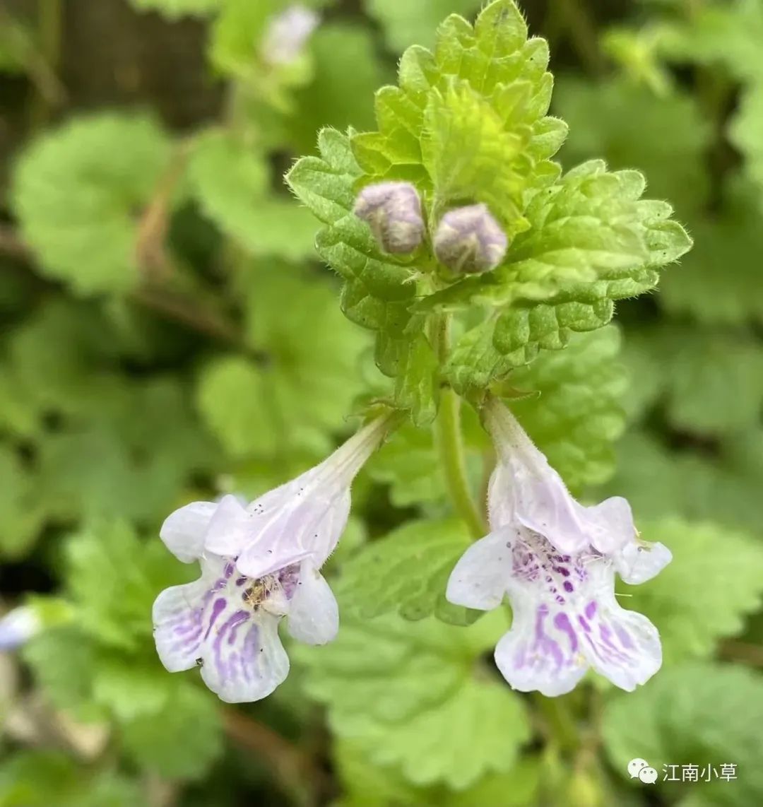
{"type": "Polygon", "coordinates": [[[490,611],[501,604],[511,577],[514,534],[511,527],[499,529],[469,546],[448,579],[445,592],[448,602],[481,611],[490,611]]]}

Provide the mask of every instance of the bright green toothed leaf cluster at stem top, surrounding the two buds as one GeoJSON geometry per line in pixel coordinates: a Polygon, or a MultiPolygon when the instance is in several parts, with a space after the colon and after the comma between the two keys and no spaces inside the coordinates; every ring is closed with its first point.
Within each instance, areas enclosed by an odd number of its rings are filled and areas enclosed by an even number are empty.
{"type": "Polygon", "coordinates": [[[511,0],[486,6],[473,27],[451,15],[433,51],[408,48],[398,86],[378,90],[377,132],[323,130],[321,156],[287,175],[325,225],[317,247],[345,280],[344,313],[377,332],[377,364],[419,424],[434,416],[442,382],[482,395],[539,349],[607,324],[615,300],[652,289],[658,270],[690,249],[669,204],[641,199],[638,172],[589,161],[561,174],[552,157],[567,127],[546,114],[547,66],[548,44],[527,38],[511,0]],[[485,203],[511,241],[501,265],[457,278],[431,245],[381,253],[352,203],[386,180],[413,183],[430,224],[454,205],[485,203]],[[427,320],[442,312],[459,328],[438,362],[427,320]]]}

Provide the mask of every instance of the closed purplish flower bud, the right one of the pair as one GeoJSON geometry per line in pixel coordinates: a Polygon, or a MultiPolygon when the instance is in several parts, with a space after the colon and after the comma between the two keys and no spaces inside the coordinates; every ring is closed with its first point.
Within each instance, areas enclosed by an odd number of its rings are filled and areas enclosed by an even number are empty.
{"type": "Polygon", "coordinates": [[[503,260],[506,233],[484,204],[457,207],[440,220],[434,247],[437,260],[454,272],[489,272],[503,260]]]}

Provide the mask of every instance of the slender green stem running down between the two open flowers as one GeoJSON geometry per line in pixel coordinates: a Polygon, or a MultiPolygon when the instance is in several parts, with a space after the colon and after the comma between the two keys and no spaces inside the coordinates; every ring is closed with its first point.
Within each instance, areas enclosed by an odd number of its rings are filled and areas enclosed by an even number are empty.
{"type": "MultiPolygon", "coordinates": [[[[436,320],[434,333],[436,353],[440,366],[450,350],[450,316],[441,314],[436,320]]],[[[448,485],[448,494],[456,512],[477,539],[485,535],[482,516],[474,503],[466,476],[464,437],[461,433],[461,398],[448,387],[440,398],[440,412],[435,424],[435,441],[440,465],[448,485]]]]}

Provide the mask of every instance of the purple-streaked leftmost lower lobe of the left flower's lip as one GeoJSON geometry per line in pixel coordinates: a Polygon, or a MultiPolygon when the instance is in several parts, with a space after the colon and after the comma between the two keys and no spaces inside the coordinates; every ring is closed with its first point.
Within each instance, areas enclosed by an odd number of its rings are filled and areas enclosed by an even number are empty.
{"type": "Polygon", "coordinates": [[[219,567],[206,567],[202,577],[184,586],[165,588],[153,604],[154,641],[169,672],[190,670],[200,658],[203,615],[211,599],[219,567]]]}

